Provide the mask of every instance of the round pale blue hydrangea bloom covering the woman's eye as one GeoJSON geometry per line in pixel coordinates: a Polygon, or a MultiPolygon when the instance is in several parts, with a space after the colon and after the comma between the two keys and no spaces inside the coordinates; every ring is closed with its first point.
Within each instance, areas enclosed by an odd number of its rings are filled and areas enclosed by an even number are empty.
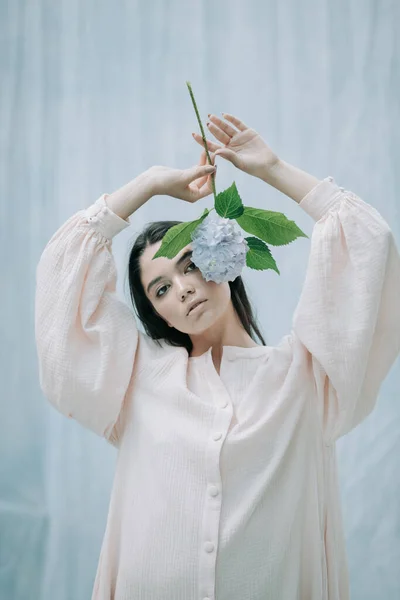
{"type": "Polygon", "coordinates": [[[206,281],[233,281],[246,266],[249,246],[233,219],[210,213],[192,235],[192,261],[206,281]]]}

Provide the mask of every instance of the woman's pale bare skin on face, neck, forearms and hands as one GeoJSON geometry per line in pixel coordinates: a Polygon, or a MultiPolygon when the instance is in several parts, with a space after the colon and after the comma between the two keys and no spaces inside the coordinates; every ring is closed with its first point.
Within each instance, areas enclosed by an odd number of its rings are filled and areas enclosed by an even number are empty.
{"type": "MultiPolygon", "coordinates": [[[[223,115],[225,120],[209,115],[207,123],[210,133],[220,142],[218,144],[207,139],[212,165],[220,156],[298,203],[319,183],[314,176],[280,159],[262,137],[243,121],[233,115],[223,115]]],[[[204,148],[201,136],[192,135],[204,148]]],[[[203,150],[199,164],[189,169],[151,167],[110,194],[106,202],[122,219],[127,219],[157,195],[197,202],[212,193],[211,178],[215,176],[215,167],[207,165],[206,161],[203,150]]],[[[142,284],[150,302],[168,325],[190,336],[193,343],[191,356],[200,356],[211,347],[214,365],[219,372],[223,346],[257,346],[236,315],[229,284],[205,281],[190,256],[178,264],[179,259],[191,250],[190,244],[173,259],[159,257],[152,260],[160,246],[161,242],[148,246],[141,256],[142,284]],[[147,291],[156,277],[161,279],[147,291]],[[206,301],[187,314],[189,304],[200,299],[206,301]]]]}

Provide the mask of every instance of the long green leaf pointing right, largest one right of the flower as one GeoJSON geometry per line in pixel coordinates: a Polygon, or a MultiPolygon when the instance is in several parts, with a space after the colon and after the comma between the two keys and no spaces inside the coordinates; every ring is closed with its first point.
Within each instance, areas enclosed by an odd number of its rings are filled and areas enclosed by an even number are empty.
{"type": "Polygon", "coordinates": [[[242,229],[272,246],[286,246],[298,237],[308,238],[294,221],[272,210],[245,206],[243,215],[237,217],[236,221],[242,229]]]}

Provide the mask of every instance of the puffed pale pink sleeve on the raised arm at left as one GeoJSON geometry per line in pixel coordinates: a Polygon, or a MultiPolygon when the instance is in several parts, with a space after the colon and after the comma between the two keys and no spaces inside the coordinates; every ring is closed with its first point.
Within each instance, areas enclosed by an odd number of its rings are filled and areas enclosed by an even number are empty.
{"type": "Polygon", "coordinates": [[[54,233],[36,268],[40,387],[58,411],[115,446],[140,339],[116,294],[111,251],[112,238],[129,225],[103,194],[54,233]]]}

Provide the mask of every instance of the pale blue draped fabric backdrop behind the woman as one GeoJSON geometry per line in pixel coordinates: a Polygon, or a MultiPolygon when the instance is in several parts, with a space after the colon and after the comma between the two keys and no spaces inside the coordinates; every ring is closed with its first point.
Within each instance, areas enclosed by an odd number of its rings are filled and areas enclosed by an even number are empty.
{"type": "MultiPolygon", "coordinates": [[[[396,0],[1,0],[0,597],[91,596],[116,450],[59,415],[38,381],[35,270],[55,230],[153,164],[199,158],[185,85],[207,114],[237,115],[286,161],[358,193],[400,246],[400,5],[396,0]],[[396,37],[397,36],[397,37],[396,37]]],[[[219,160],[217,190],[284,212],[290,198],[219,160]]],[[[190,220],[157,197],[113,242],[124,286],[149,220],[190,220]]],[[[290,331],[310,241],[245,281],[269,345],[290,331]]],[[[400,299],[399,299],[400,301],[400,299]]],[[[338,445],[353,600],[400,598],[400,369],[338,445]]]]}

